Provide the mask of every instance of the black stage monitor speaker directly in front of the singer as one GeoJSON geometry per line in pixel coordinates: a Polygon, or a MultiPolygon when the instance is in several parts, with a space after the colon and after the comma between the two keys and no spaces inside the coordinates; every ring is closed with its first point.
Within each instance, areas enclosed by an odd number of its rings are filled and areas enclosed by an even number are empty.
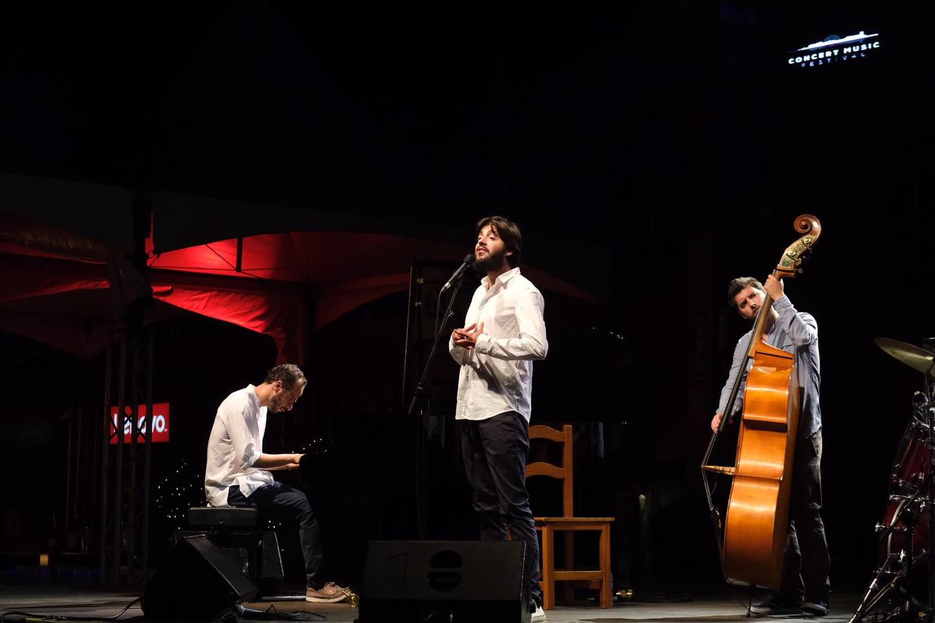
{"type": "Polygon", "coordinates": [[[370,541],[360,623],[528,623],[525,544],[370,541]]]}

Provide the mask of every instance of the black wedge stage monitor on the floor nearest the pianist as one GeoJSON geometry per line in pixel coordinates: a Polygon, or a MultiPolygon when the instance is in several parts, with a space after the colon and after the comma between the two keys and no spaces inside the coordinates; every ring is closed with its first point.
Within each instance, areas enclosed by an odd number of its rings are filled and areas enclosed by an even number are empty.
{"type": "Polygon", "coordinates": [[[143,614],[151,620],[208,621],[255,594],[237,562],[196,534],[180,539],[146,585],[143,614]]]}

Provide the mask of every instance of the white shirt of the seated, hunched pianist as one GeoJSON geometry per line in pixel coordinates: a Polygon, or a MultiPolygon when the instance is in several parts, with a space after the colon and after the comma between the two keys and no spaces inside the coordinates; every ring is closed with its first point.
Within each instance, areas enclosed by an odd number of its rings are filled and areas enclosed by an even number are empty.
{"type": "Polygon", "coordinates": [[[208,441],[205,495],[211,506],[227,505],[227,489],[237,485],[244,497],[264,485],[273,474],[252,467],[263,453],[266,407],[260,406],[256,388],[248,385],[224,399],[214,417],[208,441]]]}

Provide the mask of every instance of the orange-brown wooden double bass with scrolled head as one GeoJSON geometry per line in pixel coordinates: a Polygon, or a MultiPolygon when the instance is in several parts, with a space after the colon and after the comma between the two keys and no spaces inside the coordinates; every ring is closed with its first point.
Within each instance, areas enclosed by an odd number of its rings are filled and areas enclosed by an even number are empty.
{"type": "MultiPolygon", "coordinates": [[[[800,273],[802,261],[811,253],[821,234],[821,223],[811,214],[799,216],[795,228],[803,235],[784,250],[772,273],[774,276],[792,277],[800,273]]],[[[795,353],[771,347],[763,341],[771,309],[772,300],[767,294],[757,313],[720,425],[713,432],[701,462],[725,578],[729,584],[762,588],[779,588],[782,578],[801,405],[795,353]],[[709,465],[714,443],[733,413],[743,371],[751,360],[734,466],[709,465]],[[723,535],[721,516],[712,499],[713,476],[710,474],[732,476],[723,535]]]]}

